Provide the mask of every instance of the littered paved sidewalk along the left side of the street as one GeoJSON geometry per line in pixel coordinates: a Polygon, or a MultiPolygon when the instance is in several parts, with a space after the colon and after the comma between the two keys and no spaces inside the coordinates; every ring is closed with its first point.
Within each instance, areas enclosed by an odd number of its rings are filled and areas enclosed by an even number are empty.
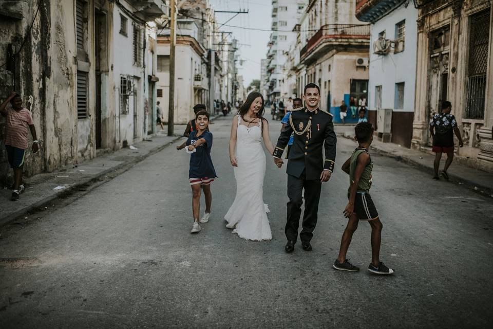
{"type": "MultiPolygon", "coordinates": [[[[213,119],[215,117],[211,118],[213,119]]],[[[129,147],[103,153],[90,161],[80,163],[78,167],[70,165],[51,173],[26,177],[24,179],[26,191],[15,202],[10,201],[12,194],[10,189],[0,190],[0,226],[28,212],[45,207],[63,195],[74,191],[85,191],[90,185],[105,180],[110,173],[119,170],[124,172],[174,141],[183,138],[178,134],[184,130],[184,124],[177,124],[175,125],[175,136],[167,136],[167,129],[165,129],[158,131],[154,136],[147,137],[147,140],[132,145],[136,148],[135,150],[129,147]]],[[[120,173],[115,173],[115,175],[120,173]]]]}

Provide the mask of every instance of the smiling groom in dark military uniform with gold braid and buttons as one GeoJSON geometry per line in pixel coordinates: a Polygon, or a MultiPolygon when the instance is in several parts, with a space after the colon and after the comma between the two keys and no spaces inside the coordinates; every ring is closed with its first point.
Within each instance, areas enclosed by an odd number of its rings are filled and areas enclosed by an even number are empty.
{"type": "Polygon", "coordinates": [[[294,132],[294,142],[288,156],[288,215],[286,221],[286,252],[293,252],[298,237],[301,215],[302,190],[305,189],[305,213],[299,234],[303,250],[310,251],[310,240],[317,225],[318,201],[322,182],[328,181],[334,170],[336,136],[332,115],[318,108],[320,88],[309,83],[305,86],[305,107],[293,109],[289,123],[281,131],[272,156],[278,167],[282,152],[294,132]],[[325,159],[322,154],[325,148],[325,159]]]}

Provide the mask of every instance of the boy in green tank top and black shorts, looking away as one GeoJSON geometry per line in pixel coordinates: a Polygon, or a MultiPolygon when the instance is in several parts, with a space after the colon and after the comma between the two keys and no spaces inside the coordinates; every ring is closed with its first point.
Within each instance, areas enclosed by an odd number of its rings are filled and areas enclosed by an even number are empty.
{"type": "Polygon", "coordinates": [[[373,162],[371,161],[368,148],[373,141],[373,126],[369,122],[358,123],[354,128],[358,147],[349,159],[344,162],[342,170],[349,174],[349,202],[344,210],[344,216],[349,218],[348,225],[344,230],[340,241],[339,256],[333,267],[338,270],[359,271],[346,259],[349,244],[354,232],[358,228],[359,221],[368,221],[371,226],[371,263],[368,270],[372,273],[389,275],[394,272],[380,261],[380,243],[382,239],[382,223],[378,218],[375,205],[369,194],[371,187],[371,172],[373,162]]]}

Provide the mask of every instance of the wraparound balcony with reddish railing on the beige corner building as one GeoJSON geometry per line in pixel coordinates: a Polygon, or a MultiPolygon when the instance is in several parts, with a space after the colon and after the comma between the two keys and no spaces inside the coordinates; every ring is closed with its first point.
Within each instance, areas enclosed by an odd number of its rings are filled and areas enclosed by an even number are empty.
{"type": "Polygon", "coordinates": [[[336,47],[368,50],[370,25],[329,24],[322,26],[299,52],[300,62],[309,65],[336,47]]]}

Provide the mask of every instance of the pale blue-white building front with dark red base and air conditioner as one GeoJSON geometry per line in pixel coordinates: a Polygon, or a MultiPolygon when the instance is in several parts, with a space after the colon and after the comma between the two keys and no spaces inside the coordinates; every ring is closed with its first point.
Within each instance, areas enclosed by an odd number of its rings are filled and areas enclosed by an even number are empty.
{"type": "Polygon", "coordinates": [[[410,148],[418,9],[409,0],[361,0],[356,17],[371,23],[368,119],[383,141],[410,148]]]}

